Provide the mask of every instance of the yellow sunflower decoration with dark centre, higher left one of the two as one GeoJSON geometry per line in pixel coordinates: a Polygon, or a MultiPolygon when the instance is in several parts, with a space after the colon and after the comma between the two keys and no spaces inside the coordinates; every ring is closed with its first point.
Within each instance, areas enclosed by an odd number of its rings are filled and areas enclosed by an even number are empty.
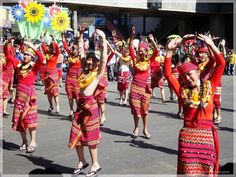
{"type": "Polygon", "coordinates": [[[38,2],[30,2],[25,8],[25,17],[28,22],[37,23],[44,16],[44,7],[38,2]]]}

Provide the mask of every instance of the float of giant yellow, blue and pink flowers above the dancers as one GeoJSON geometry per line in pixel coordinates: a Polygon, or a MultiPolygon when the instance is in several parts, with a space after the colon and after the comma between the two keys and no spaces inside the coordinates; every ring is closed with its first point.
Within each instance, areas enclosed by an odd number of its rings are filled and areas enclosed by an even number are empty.
{"type": "Polygon", "coordinates": [[[37,1],[20,0],[19,4],[12,6],[11,14],[22,38],[37,40],[47,31],[47,41],[50,40],[50,34],[60,39],[62,32],[71,29],[69,10],[56,3],[45,7],[37,1]]]}

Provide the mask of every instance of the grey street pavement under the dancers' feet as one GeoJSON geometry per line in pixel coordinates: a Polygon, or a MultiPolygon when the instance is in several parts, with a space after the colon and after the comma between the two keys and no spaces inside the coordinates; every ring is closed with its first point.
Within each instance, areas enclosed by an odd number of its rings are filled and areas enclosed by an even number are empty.
{"type": "MultiPolygon", "coordinates": [[[[223,77],[222,123],[219,125],[220,164],[233,162],[233,77],[223,77]]],[[[183,120],[177,118],[177,102],[162,103],[159,89],[155,89],[157,98],[151,99],[149,111],[149,132],[151,139],[142,134],[142,122],[139,124],[139,137],[133,140],[133,119],[128,106],[120,106],[116,82],[110,82],[107,93],[107,121],[101,127],[102,142],[98,146],[98,158],[102,171],[99,176],[160,176],[176,174],[177,140],[183,120]]],[[[48,102],[36,86],[38,94],[39,127],[37,129],[38,149],[32,154],[18,151],[21,138],[18,132],[11,130],[11,117],[3,118],[3,174],[29,174],[36,169],[48,169],[54,173],[71,174],[78,162],[75,150],[67,147],[71,121],[67,118],[69,105],[64,87],[60,90],[59,115],[47,113],[48,102]]],[[[166,87],[166,98],[169,90],[166,87]]],[[[12,106],[8,111],[12,113],[12,106]]],[[[12,114],[11,114],[12,115],[12,114]]],[[[2,151],[1,151],[2,152],[2,151]]],[[[91,164],[88,148],[85,148],[87,162],[91,164]]],[[[86,169],[85,173],[89,170],[86,169]]],[[[229,173],[225,170],[223,173],[229,173]]]]}

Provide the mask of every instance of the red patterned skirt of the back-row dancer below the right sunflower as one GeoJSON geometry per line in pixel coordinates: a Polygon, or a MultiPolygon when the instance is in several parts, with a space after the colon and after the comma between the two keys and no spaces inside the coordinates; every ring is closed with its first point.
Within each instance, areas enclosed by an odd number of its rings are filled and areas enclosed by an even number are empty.
{"type": "Polygon", "coordinates": [[[57,70],[46,70],[45,72],[45,94],[59,95],[58,72],[57,70]]]}

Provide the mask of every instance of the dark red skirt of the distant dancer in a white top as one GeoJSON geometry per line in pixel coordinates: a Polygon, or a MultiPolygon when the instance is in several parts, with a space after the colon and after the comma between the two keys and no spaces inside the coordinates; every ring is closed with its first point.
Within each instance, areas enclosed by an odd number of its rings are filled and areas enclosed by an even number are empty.
{"type": "Polygon", "coordinates": [[[122,92],[129,88],[130,72],[118,72],[117,90],[122,92]]]}

